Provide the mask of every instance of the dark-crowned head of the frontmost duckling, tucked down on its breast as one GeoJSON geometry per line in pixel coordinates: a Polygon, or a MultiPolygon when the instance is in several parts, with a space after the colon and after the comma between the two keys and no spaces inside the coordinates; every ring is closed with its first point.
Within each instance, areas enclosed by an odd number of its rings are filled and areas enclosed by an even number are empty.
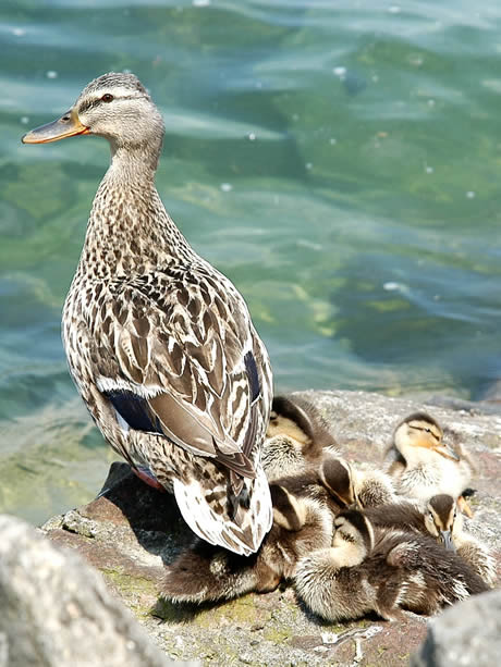
{"type": "Polygon", "coordinates": [[[332,548],[338,567],[359,565],[374,548],[372,524],[356,509],[341,512],[335,518],[334,531],[332,548]]]}

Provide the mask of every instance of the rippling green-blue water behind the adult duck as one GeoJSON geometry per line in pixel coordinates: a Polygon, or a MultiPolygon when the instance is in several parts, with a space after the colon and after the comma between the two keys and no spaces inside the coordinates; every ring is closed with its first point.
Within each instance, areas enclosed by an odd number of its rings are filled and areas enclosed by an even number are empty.
{"type": "Polygon", "coordinates": [[[500,28],[498,1],[2,2],[0,511],[88,501],[113,458],[59,335],[108,147],[22,134],[133,71],[166,206],[245,295],[277,390],[477,398],[500,371],[500,28]]]}

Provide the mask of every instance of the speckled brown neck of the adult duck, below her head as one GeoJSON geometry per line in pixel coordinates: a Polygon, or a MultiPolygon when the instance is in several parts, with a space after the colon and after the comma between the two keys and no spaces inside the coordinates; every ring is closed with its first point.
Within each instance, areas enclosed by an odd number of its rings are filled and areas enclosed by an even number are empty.
{"type": "Polygon", "coordinates": [[[98,279],[190,261],[193,250],[155,187],[158,150],[112,146],[94,198],[80,269],[98,279]]]}

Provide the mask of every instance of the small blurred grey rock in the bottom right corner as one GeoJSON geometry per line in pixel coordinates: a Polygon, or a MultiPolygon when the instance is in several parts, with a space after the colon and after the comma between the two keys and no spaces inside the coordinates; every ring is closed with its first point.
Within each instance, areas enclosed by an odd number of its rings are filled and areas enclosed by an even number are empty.
{"type": "Polygon", "coordinates": [[[477,595],[432,620],[412,667],[497,667],[501,655],[501,591],[477,595]]]}

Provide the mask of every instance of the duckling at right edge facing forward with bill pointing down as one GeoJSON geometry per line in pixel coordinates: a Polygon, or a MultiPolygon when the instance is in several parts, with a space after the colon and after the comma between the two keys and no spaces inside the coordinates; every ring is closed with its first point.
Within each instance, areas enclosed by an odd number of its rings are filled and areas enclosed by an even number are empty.
{"type": "Polygon", "coordinates": [[[457,503],[448,494],[432,496],[425,505],[405,502],[370,507],[364,515],[375,527],[428,534],[457,553],[488,584],[496,581],[496,561],[489,547],[463,530],[457,503]]]}

